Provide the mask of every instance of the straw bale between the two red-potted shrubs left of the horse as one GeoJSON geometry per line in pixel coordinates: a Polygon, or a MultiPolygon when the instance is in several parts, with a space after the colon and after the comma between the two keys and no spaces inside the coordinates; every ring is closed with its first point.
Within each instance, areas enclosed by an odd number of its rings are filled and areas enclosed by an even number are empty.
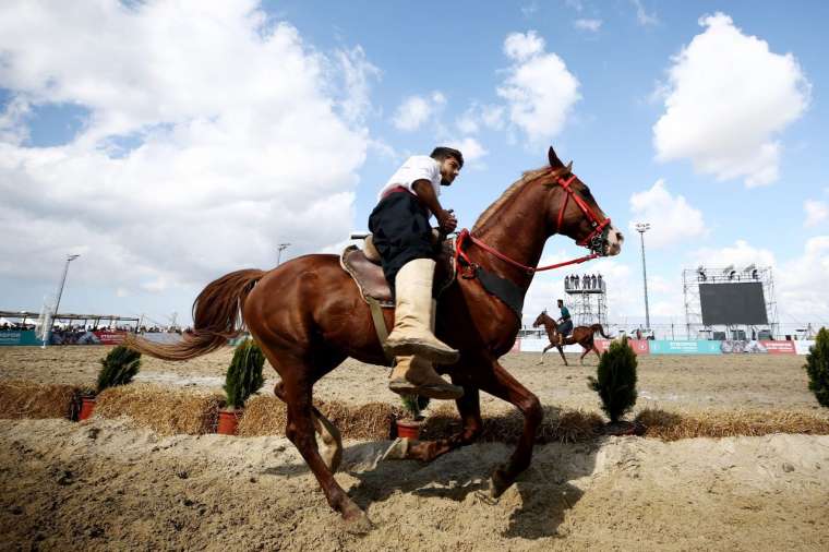
{"type": "Polygon", "coordinates": [[[135,423],[163,435],[199,435],[216,429],[224,397],[216,394],[171,391],[156,385],[120,385],[98,395],[95,416],[129,416],[135,423]]]}

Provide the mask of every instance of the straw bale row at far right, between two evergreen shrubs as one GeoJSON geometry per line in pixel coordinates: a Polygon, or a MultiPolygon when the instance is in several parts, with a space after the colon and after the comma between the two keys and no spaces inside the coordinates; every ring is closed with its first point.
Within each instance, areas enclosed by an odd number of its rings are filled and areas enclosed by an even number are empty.
{"type": "Polygon", "coordinates": [[[649,408],[639,412],[636,421],[645,425],[645,436],[663,441],[771,433],[829,434],[829,418],[826,416],[784,410],[677,415],[649,408]]]}

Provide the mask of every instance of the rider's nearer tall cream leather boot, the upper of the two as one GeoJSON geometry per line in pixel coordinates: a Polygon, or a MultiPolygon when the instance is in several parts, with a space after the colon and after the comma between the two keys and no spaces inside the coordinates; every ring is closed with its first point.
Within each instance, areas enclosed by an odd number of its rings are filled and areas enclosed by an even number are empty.
{"type": "Polygon", "coordinates": [[[396,357],[416,355],[437,364],[454,364],[459,358],[458,351],[437,339],[430,329],[434,267],[431,259],[414,259],[397,273],[395,327],[386,339],[386,347],[396,357]]]}

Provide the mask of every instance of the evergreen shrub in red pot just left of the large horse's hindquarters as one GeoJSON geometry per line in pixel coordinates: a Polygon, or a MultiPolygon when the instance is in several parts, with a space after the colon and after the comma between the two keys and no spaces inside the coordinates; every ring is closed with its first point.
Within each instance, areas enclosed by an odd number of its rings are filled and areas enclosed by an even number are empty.
{"type": "Polygon", "coordinates": [[[219,421],[216,432],[223,435],[236,435],[244,401],[262,387],[265,379],[262,368],[265,365],[265,355],[253,339],[245,339],[236,347],[233,360],[225,375],[225,408],[219,410],[219,421]]]}

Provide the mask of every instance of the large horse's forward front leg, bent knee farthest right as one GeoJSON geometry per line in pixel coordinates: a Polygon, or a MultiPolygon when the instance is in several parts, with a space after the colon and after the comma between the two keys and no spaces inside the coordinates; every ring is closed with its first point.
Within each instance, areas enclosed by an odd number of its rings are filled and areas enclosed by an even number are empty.
{"type": "Polygon", "coordinates": [[[544,415],[538,397],[518,383],[497,361],[492,360],[492,370],[481,373],[480,377],[481,391],[515,405],[524,413],[524,432],[518,440],[518,446],[509,461],[492,473],[491,493],[497,497],[529,467],[536,432],[544,415]]]}

